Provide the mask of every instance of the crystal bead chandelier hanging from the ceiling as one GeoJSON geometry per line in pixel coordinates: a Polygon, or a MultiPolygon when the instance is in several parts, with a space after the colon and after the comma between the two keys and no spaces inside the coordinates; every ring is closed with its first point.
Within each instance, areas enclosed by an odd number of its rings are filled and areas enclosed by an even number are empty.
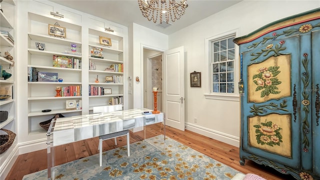
{"type": "Polygon", "coordinates": [[[166,23],[169,23],[169,18],[174,22],[184,14],[185,8],[188,6],[186,0],[138,0],[138,3],[142,15],[149,21],[152,19],[154,23],[158,16],[160,23],[162,23],[163,14],[166,23]]]}

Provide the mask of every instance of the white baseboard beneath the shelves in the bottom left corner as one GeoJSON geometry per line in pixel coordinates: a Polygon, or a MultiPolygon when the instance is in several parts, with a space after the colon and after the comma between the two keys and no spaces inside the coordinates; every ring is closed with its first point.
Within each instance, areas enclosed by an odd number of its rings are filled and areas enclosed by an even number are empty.
{"type": "Polygon", "coordinates": [[[8,158],[5,158],[4,161],[3,159],[0,160],[1,162],[0,163],[0,179],[5,179],[5,177],[9,173],[18,155],[19,155],[19,149],[18,149],[18,145],[16,144],[13,147],[12,151],[8,154],[8,158]]]}

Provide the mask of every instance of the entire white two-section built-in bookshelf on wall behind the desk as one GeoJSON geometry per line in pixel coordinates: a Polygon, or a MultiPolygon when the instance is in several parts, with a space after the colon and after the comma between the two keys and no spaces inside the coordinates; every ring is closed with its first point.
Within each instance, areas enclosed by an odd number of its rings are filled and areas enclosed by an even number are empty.
{"type": "Polygon", "coordinates": [[[19,90],[27,94],[18,96],[19,126],[23,127],[19,130],[22,134],[19,140],[25,144],[19,150],[26,153],[45,148],[46,130],[39,123],[52,119],[55,114],[66,117],[89,114],[93,106],[108,105],[112,98],[126,100],[123,98],[125,71],[105,71],[105,68],[111,64],[126,68],[123,62],[124,59],[127,61],[127,50],[123,51],[123,41],[127,40],[123,39],[127,39],[127,27],[113,22],[112,26],[105,19],[49,0],[19,1],[17,8],[21,26],[17,39],[21,58],[17,64],[21,69],[19,90]],[[51,11],[58,11],[64,17],[54,17],[51,11]],[[64,34],[49,34],[54,24],[58,24],[60,30],[65,28],[65,37],[64,34]],[[104,31],[105,24],[114,32],[104,31]],[[110,38],[111,46],[99,44],[99,36],[110,38]],[[75,49],[71,44],[76,44],[75,49]],[[102,48],[103,58],[90,57],[91,46],[102,48]],[[56,58],[60,59],[55,61],[56,58]],[[90,60],[95,63],[95,70],[89,68],[90,60]],[[31,71],[34,71],[32,76],[35,78],[28,77],[31,71]],[[97,75],[99,82],[95,82],[97,75]],[[111,76],[114,81],[105,82],[105,76],[111,76]],[[89,95],[89,85],[102,87],[107,94],[89,95]],[[57,89],[61,89],[60,96],[57,96],[57,89]],[[79,108],[67,108],[68,102],[82,103],[79,108]]]}

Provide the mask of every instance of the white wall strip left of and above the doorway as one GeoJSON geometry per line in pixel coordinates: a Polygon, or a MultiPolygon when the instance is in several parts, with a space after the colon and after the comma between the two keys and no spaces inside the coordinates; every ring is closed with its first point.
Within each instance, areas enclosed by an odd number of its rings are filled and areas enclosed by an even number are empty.
{"type": "MultiPolygon", "coordinates": [[[[168,36],[160,32],[151,30],[139,24],[133,23],[133,72],[132,72],[132,86],[133,86],[133,108],[143,107],[143,47],[164,51],[168,49],[168,36]],[[138,76],[140,82],[135,81],[138,76]]],[[[129,59],[130,60],[130,59],[129,59]]]]}

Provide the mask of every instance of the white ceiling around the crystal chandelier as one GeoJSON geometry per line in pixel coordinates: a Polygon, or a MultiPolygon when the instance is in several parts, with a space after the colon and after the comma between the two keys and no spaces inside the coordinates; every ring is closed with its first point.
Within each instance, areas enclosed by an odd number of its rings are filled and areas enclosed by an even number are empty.
{"type": "MultiPolygon", "coordinates": [[[[133,22],[155,31],[171,34],[181,28],[191,25],[205,17],[221,11],[241,0],[187,0],[188,7],[184,15],[166,28],[157,26],[142,16],[137,0],[50,0],[55,3],[92,14],[103,19],[125,26],[133,22]]],[[[165,23],[165,22],[162,22],[165,23]]]]}

